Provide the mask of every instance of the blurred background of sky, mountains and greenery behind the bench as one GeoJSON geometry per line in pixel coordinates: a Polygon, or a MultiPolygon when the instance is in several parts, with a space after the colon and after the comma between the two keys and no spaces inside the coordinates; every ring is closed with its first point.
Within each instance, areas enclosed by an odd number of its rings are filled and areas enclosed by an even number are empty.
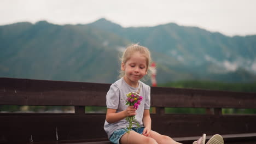
{"type": "MultiPolygon", "coordinates": [[[[113,83],[119,79],[120,52],[139,43],[152,52],[158,86],[256,92],[255,5],[249,0],[3,0],[0,77],[113,83]]],[[[150,76],[144,82],[152,85],[150,76]]],[[[73,112],[73,107],[0,106],[0,111],[73,112]]]]}

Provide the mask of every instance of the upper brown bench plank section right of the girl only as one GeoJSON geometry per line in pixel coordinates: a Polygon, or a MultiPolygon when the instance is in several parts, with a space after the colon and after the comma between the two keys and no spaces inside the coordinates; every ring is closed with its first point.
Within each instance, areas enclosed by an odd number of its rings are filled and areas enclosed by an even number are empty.
{"type": "Polygon", "coordinates": [[[151,88],[151,106],[203,108],[256,108],[256,93],[187,88],[151,88]]]}

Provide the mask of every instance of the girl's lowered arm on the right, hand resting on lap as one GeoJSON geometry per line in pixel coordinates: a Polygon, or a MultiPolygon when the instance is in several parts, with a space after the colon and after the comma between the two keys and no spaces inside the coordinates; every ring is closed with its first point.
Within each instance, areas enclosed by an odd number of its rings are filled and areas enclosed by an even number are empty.
{"type": "Polygon", "coordinates": [[[149,110],[144,110],[144,115],[143,115],[143,124],[144,124],[144,130],[143,130],[143,135],[144,136],[150,136],[150,131],[151,131],[151,118],[150,118],[150,113],[149,110]]]}

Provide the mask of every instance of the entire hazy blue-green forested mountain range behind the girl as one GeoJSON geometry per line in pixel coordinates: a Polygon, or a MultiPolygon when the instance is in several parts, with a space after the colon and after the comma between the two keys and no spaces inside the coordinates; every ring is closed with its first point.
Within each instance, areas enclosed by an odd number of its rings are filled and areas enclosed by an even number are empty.
{"type": "Polygon", "coordinates": [[[106,19],[0,26],[0,77],[112,83],[119,53],[131,43],[152,51],[159,83],[256,81],[256,35],[228,37],[175,23],[124,28],[106,19]]]}

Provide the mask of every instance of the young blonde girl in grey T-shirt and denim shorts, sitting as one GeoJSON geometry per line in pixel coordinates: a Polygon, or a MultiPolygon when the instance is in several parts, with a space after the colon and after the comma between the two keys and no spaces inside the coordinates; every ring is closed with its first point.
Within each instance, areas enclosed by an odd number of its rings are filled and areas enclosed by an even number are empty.
{"type": "MultiPolygon", "coordinates": [[[[169,136],[151,130],[150,87],[139,81],[148,73],[150,62],[151,57],[147,47],[134,44],[127,47],[123,53],[121,79],[110,86],[106,95],[107,114],[104,130],[112,143],[178,143],[169,136]],[[125,94],[130,92],[137,92],[143,97],[137,110],[133,106],[126,105],[125,94]],[[128,116],[136,116],[136,122],[140,126],[133,125],[134,128],[130,133],[127,133],[126,128],[129,123],[125,118],[128,116]]],[[[213,140],[223,143],[220,135],[214,135],[207,143],[210,144],[213,140]]],[[[194,143],[205,144],[205,134],[194,143]]]]}

